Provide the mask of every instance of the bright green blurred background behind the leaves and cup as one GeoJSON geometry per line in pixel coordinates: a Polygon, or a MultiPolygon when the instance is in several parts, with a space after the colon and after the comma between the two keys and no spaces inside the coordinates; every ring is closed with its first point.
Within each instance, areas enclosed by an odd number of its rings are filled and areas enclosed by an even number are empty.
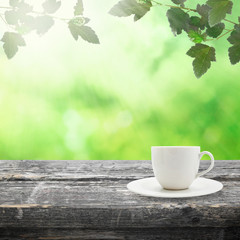
{"type": "MultiPolygon", "coordinates": [[[[71,16],[75,1],[63,2],[60,15],[71,16]]],[[[227,37],[210,42],[217,62],[196,79],[193,43],[173,36],[167,8],[134,23],[107,14],[116,2],[85,1],[100,45],[56,22],[12,60],[1,48],[0,158],[150,159],[151,146],[199,145],[239,159],[240,65],[228,60],[227,37]]]]}

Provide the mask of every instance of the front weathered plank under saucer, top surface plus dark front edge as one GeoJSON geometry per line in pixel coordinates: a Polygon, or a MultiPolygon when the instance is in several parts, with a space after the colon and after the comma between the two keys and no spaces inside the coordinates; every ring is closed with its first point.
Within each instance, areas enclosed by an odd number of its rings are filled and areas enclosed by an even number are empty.
{"type": "Polygon", "coordinates": [[[0,227],[240,227],[239,182],[188,199],[139,196],[127,182],[1,182],[0,227]]]}

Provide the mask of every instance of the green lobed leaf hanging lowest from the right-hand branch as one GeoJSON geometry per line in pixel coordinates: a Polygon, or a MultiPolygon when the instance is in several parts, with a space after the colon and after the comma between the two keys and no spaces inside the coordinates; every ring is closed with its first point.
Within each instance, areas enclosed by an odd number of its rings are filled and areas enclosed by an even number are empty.
{"type": "Polygon", "coordinates": [[[191,47],[187,55],[195,58],[193,70],[197,78],[200,78],[211,67],[211,62],[216,61],[215,49],[204,44],[197,43],[191,47]]]}

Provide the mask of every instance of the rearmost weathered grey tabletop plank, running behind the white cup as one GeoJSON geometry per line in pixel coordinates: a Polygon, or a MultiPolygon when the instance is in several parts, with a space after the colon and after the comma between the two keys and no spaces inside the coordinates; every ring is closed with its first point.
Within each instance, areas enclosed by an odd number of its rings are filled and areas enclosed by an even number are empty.
{"type": "MultiPolygon", "coordinates": [[[[206,169],[209,161],[201,161],[206,169]]],[[[1,160],[0,181],[68,181],[85,179],[139,179],[153,176],[151,161],[31,161],[1,160]]],[[[216,180],[240,181],[240,160],[216,161],[214,169],[205,175],[216,180]]]]}

